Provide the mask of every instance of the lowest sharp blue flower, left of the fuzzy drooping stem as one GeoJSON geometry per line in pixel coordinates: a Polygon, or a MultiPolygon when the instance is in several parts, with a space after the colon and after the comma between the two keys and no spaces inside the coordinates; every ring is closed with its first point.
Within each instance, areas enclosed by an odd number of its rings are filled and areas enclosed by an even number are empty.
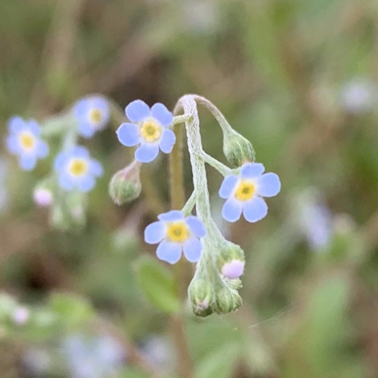
{"type": "Polygon", "coordinates": [[[157,222],[145,229],[145,241],[157,244],[156,256],[170,264],[177,263],[184,251],[190,263],[196,263],[201,257],[202,243],[200,237],[205,236],[203,223],[195,216],[184,217],[179,210],[171,210],[160,214],[157,222]]]}

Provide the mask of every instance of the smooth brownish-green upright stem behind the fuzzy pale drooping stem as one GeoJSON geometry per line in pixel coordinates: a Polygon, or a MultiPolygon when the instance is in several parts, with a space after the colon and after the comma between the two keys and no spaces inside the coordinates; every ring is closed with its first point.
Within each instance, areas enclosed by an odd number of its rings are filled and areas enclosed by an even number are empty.
{"type": "MultiPolygon", "coordinates": [[[[170,194],[171,194],[171,208],[181,209],[185,203],[185,188],[183,176],[183,127],[176,126],[177,142],[172,153],[169,155],[169,176],[170,176],[170,194]]],[[[181,260],[174,265],[175,279],[178,284],[178,292],[184,301],[186,299],[186,269],[187,264],[181,260]]],[[[189,347],[185,335],[185,325],[182,314],[174,314],[171,318],[172,332],[175,340],[178,363],[177,371],[181,378],[192,378],[192,363],[189,354],[189,347]]]]}

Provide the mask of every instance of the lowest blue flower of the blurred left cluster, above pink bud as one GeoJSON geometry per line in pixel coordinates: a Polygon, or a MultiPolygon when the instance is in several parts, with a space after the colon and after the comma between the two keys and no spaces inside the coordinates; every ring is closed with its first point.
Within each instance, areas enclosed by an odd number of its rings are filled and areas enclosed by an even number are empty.
{"type": "Polygon", "coordinates": [[[74,147],[71,151],[60,152],[54,162],[59,174],[59,184],[65,190],[89,191],[95,186],[95,177],[102,175],[102,166],[89,156],[84,147],[74,147]]]}

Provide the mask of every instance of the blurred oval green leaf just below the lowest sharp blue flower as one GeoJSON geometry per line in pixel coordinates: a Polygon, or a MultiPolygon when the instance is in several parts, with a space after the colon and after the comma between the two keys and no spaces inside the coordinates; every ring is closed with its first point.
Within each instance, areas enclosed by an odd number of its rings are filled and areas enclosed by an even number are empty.
{"type": "Polygon", "coordinates": [[[143,256],[136,263],[136,274],[143,294],[152,305],[167,313],[179,311],[180,300],[170,270],[155,259],[143,256]]]}

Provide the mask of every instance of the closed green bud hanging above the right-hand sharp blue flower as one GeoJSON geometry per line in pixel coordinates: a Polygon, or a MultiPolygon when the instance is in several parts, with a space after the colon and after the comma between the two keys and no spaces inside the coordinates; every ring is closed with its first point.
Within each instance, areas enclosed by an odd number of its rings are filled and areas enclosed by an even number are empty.
{"type": "Polygon", "coordinates": [[[223,134],[223,152],[228,162],[236,167],[255,160],[255,150],[251,142],[233,129],[223,134]]]}

